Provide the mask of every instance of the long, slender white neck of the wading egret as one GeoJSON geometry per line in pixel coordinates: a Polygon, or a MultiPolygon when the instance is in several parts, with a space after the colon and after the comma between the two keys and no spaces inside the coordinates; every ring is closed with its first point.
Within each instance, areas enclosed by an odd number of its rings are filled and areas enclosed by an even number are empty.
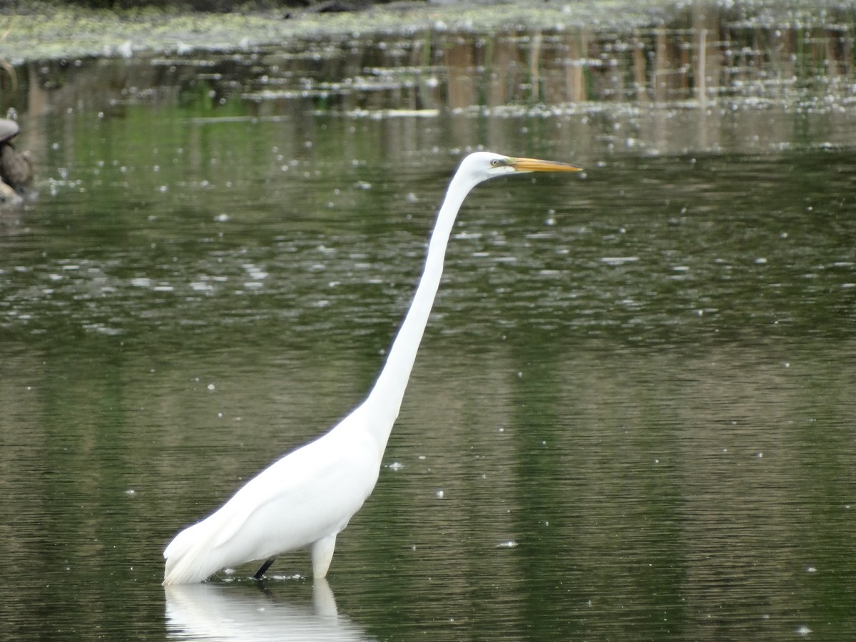
{"type": "Polygon", "coordinates": [[[386,364],[377,377],[372,392],[369,393],[363,403],[363,409],[368,412],[369,427],[377,439],[381,452],[386,448],[389,432],[398,417],[401,408],[401,400],[407,389],[407,380],[413,369],[413,361],[419,350],[419,342],[422,341],[422,333],[425,324],[431,315],[431,306],[434,305],[434,297],[440,286],[440,277],[443,276],[443,259],[446,255],[446,246],[449,244],[449,235],[455,225],[455,217],[461,203],[473,187],[479,181],[462,175],[455,175],[449,183],[446,198],[437,214],[437,223],[431,233],[431,242],[428,244],[428,253],[425,257],[425,270],[419,278],[416,294],[413,294],[413,302],[392,347],[386,358],[386,364]]]}

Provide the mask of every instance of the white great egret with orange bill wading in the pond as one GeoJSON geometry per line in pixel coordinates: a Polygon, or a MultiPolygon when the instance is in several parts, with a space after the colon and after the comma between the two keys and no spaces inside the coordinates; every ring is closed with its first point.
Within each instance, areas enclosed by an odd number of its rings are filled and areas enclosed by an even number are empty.
{"type": "Polygon", "coordinates": [[[579,171],[566,163],[476,152],[452,177],[425,258],[413,302],[389,348],[372,391],[332,430],[275,461],[228,502],[169,543],[163,584],[201,582],[222,568],[264,562],[309,546],[312,574],[330,568],[336,535],[372,493],[383,450],[398,417],[407,379],[443,273],[443,258],[461,203],[473,187],[494,176],[540,171],[579,171]]]}

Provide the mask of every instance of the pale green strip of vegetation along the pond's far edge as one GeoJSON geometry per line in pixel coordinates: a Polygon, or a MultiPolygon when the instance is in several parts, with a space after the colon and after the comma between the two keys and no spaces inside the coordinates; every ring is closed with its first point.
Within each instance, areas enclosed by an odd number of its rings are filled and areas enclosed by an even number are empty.
{"type": "Polygon", "coordinates": [[[666,28],[687,12],[704,12],[708,7],[747,28],[829,24],[841,29],[842,24],[853,25],[856,17],[856,0],[190,0],[178,9],[168,3],[134,0],[74,4],[0,0],[0,60],[4,66],[17,66],[39,60],[230,51],[294,39],[372,33],[538,29],[628,33],[666,28]]]}

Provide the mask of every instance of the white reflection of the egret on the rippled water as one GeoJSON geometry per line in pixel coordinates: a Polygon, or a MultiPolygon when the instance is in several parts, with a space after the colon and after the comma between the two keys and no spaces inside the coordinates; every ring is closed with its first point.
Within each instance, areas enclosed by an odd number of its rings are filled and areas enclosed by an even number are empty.
{"type": "MultiPolygon", "coordinates": [[[[300,583],[300,586],[306,586],[300,583]]],[[[306,586],[308,588],[308,586],[306,586]]],[[[369,640],[339,615],[327,580],[312,582],[312,605],[277,597],[270,585],[166,586],[170,639],[369,640]]]]}

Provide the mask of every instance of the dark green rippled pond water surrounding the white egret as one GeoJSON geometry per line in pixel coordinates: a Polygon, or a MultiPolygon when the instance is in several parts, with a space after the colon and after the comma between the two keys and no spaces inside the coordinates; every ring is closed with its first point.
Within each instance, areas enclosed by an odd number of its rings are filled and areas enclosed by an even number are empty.
{"type": "Polygon", "coordinates": [[[852,39],[716,24],[31,66],[0,637],[849,639],[852,39]],[[475,146],[586,172],[467,200],[328,582],[164,591],[366,393],[475,146]]]}

